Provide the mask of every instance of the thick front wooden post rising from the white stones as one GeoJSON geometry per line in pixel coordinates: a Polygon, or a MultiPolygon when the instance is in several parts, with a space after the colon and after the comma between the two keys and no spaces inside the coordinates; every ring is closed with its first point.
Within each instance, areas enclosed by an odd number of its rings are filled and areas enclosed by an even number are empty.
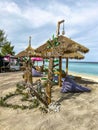
{"type": "Polygon", "coordinates": [[[52,80],[53,80],[53,58],[49,60],[49,70],[48,70],[48,83],[46,86],[46,93],[47,93],[47,102],[48,104],[51,103],[51,87],[52,87],[52,80]]]}

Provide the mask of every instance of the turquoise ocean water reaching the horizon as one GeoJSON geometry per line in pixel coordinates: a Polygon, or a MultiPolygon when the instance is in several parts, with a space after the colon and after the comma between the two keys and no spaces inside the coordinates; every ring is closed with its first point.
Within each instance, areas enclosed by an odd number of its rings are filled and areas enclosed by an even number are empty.
{"type": "MultiPolygon", "coordinates": [[[[48,64],[49,62],[45,62],[47,67],[48,64]]],[[[42,65],[42,62],[39,62],[38,65],[42,65]]],[[[62,69],[66,70],[65,61],[62,61],[62,69]]],[[[98,76],[98,62],[69,62],[68,70],[79,74],[98,76]]]]}

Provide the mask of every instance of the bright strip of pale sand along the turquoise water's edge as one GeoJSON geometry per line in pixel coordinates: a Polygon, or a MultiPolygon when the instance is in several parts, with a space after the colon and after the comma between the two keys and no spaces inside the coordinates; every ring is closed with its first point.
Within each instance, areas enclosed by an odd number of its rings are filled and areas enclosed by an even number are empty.
{"type": "Polygon", "coordinates": [[[71,74],[73,76],[80,76],[82,78],[98,82],[98,76],[88,75],[88,74],[83,74],[83,73],[77,73],[77,72],[72,72],[72,71],[69,71],[69,74],[71,74]]]}

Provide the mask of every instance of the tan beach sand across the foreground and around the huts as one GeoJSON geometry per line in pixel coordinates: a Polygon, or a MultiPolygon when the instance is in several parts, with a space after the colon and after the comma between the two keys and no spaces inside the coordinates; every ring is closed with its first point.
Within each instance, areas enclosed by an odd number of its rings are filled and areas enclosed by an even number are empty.
{"type": "MultiPolygon", "coordinates": [[[[13,92],[20,81],[22,72],[0,74],[0,97],[13,92]]],[[[82,75],[77,82],[91,92],[61,94],[58,86],[52,88],[52,101],[59,101],[60,112],[0,107],[0,130],[98,130],[98,79],[82,75]]]]}

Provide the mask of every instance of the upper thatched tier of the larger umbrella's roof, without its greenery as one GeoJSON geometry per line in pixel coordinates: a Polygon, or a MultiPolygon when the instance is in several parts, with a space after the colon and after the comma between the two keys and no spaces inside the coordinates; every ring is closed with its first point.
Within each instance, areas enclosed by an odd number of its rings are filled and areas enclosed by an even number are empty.
{"type": "MultiPolygon", "coordinates": [[[[88,48],[86,48],[85,46],[71,40],[70,38],[67,38],[65,36],[58,36],[58,42],[60,43],[58,46],[55,46],[55,48],[52,48],[53,52],[58,52],[60,55],[64,54],[64,53],[69,53],[69,52],[82,52],[82,53],[87,53],[89,51],[88,48]]],[[[53,43],[53,40],[51,40],[51,43],[53,43]]],[[[49,45],[48,41],[41,45],[40,47],[38,47],[36,49],[36,52],[44,52],[46,53],[47,51],[51,51],[51,48],[47,48],[47,46],[49,45]]]]}

